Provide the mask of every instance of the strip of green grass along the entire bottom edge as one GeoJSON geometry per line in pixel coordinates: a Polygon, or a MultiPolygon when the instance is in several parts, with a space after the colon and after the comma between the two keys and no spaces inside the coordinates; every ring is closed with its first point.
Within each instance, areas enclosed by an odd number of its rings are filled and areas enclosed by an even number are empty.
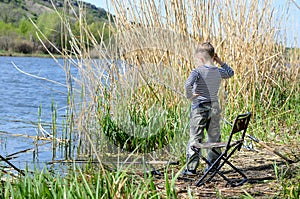
{"type": "MultiPolygon", "coordinates": [[[[129,174],[127,169],[130,168],[108,171],[101,170],[95,165],[87,165],[85,168],[71,167],[65,174],[50,173],[47,169],[26,172],[22,178],[6,178],[5,181],[2,178],[0,196],[1,198],[180,198],[178,195],[180,189],[176,182],[180,171],[174,172],[172,168],[166,168],[162,176],[164,187],[161,187],[157,185],[161,180],[155,179],[151,174],[129,174]]],[[[277,193],[273,193],[270,198],[298,198],[299,168],[293,170],[290,167],[279,167],[275,163],[274,172],[277,179],[272,184],[271,190],[277,193]]],[[[186,189],[189,198],[197,197],[195,187],[186,189]]],[[[198,191],[205,192],[206,189],[198,191]]],[[[232,197],[258,198],[255,195],[251,196],[253,194],[251,186],[247,188],[245,185],[241,189],[245,194],[232,197]]],[[[233,190],[237,191],[236,188],[233,190]]],[[[265,188],[264,190],[268,192],[265,188]]],[[[215,194],[219,198],[226,198],[218,190],[215,190],[215,194]]]]}

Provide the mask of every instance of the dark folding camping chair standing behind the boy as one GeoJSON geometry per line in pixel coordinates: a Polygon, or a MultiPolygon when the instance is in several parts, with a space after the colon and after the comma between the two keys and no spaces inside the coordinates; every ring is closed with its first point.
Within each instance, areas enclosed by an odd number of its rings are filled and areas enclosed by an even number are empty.
{"type": "Polygon", "coordinates": [[[240,186],[247,181],[246,175],[236,168],[229,158],[236,152],[239,151],[244,143],[244,138],[246,130],[250,121],[251,113],[240,114],[236,117],[230,136],[227,142],[217,142],[217,143],[201,143],[197,146],[192,146],[192,150],[203,159],[208,165],[208,169],[204,172],[203,176],[196,182],[196,186],[203,185],[206,182],[209,182],[213,177],[218,173],[222,178],[224,178],[228,184],[231,186],[240,186]],[[220,151],[216,149],[220,149],[220,151]],[[221,149],[223,148],[223,150],[221,149]],[[214,153],[218,155],[218,158],[214,163],[210,163],[207,158],[202,156],[201,149],[211,149],[214,153]],[[226,177],[220,169],[225,165],[229,165],[236,173],[239,174],[242,179],[229,179],[226,177]]]}

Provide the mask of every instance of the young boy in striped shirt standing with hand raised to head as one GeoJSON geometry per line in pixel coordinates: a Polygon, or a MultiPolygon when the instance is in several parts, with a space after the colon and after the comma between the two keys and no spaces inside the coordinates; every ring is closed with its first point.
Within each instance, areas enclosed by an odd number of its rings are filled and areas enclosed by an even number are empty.
{"type": "MultiPolygon", "coordinates": [[[[230,78],[234,71],[215,54],[214,47],[205,42],[195,51],[196,68],[191,71],[185,83],[186,98],[192,101],[190,114],[190,139],[186,149],[187,167],[183,174],[195,175],[199,157],[194,155],[191,146],[201,143],[204,130],[207,131],[208,142],[219,142],[220,106],[218,91],[221,79],[230,78]],[[214,66],[213,61],[221,67],[214,66]]],[[[216,155],[207,150],[207,159],[213,163],[216,155]]]]}

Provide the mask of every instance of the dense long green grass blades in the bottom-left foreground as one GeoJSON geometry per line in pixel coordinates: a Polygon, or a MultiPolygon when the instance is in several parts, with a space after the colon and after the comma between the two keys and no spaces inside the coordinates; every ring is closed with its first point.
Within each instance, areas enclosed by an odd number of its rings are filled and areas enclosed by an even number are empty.
{"type": "Polygon", "coordinates": [[[66,176],[48,170],[27,173],[23,178],[3,181],[0,198],[161,198],[147,174],[143,179],[121,170],[86,173],[76,168],[66,176]]]}

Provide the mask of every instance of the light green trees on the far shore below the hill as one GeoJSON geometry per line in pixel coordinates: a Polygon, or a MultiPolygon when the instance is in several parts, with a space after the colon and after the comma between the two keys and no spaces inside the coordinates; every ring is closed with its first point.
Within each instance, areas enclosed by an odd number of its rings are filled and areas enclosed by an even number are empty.
{"type": "MultiPolygon", "coordinates": [[[[0,0],[10,1],[10,0],[0,0]]],[[[17,0],[13,0],[17,1],[17,0]]],[[[50,42],[58,49],[62,48],[62,21],[55,12],[43,12],[39,16],[32,15],[31,19],[34,21],[39,31],[36,29],[32,21],[21,14],[20,8],[11,4],[1,4],[0,12],[0,51],[9,51],[16,53],[51,53],[55,52],[55,48],[50,42]],[[13,8],[13,9],[12,9],[13,8]],[[40,34],[44,36],[42,36],[40,34]],[[41,44],[38,36],[43,42],[41,44]],[[47,47],[47,50],[44,48],[47,47]]],[[[90,12],[95,12],[94,10],[90,12]]],[[[87,13],[90,13],[87,12],[87,13]]],[[[76,18],[69,17],[71,21],[71,31],[75,37],[79,38],[80,27],[76,18]]],[[[100,41],[100,33],[102,33],[105,18],[98,18],[95,15],[88,14],[86,17],[87,28],[94,38],[100,41]]],[[[109,31],[104,30],[104,38],[108,37],[109,31]]],[[[88,44],[91,45],[91,44],[88,44]]],[[[68,45],[67,45],[68,46],[68,45]]]]}

